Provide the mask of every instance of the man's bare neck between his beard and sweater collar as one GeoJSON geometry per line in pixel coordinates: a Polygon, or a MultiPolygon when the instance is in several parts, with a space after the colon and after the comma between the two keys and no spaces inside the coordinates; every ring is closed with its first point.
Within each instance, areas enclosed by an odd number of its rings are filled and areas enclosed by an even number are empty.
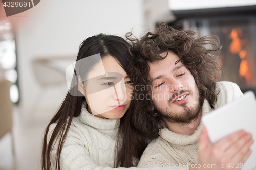
{"type": "Polygon", "coordinates": [[[177,123],[170,123],[167,120],[164,119],[164,123],[168,127],[168,129],[172,132],[182,134],[182,135],[193,135],[197,127],[199,126],[201,122],[202,117],[202,110],[199,113],[199,116],[197,119],[193,120],[189,124],[177,124],[177,123]]]}

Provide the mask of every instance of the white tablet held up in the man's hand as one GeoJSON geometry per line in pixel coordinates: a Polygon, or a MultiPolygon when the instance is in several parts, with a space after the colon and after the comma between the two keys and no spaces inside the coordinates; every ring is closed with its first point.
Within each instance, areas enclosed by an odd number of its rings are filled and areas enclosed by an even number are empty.
{"type": "MultiPolygon", "coordinates": [[[[244,93],[241,98],[203,116],[202,121],[211,143],[241,129],[250,132],[254,140],[251,146],[252,153],[242,169],[256,169],[256,99],[252,91],[244,93]]],[[[240,167],[241,165],[238,162],[233,166],[240,167]]]]}

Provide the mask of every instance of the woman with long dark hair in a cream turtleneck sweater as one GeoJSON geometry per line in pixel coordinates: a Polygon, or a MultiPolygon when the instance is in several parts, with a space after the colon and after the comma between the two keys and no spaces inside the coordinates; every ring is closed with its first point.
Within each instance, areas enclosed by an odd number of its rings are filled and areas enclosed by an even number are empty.
{"type": "Polygon", "coordinates": [[[104,34],[82,42],[70,90],[45,131],[43,170],[137,165],[147,142],[130,125],[129,47],[104,34]]]}

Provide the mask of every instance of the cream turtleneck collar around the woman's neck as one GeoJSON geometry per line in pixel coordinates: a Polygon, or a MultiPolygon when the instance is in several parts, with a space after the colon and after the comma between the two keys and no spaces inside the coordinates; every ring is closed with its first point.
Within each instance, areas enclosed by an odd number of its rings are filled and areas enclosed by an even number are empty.
{"type": "Polygon", "coordinates": [[[87,111],[86,107],[87,103],[84,101],[82,103],[81,114],[79,116],[79,119],[86,125],[96,129],[111,130],[115,129],[116,124],[119,123],[120,119],[105,119],[93,116],[87,111]]]}

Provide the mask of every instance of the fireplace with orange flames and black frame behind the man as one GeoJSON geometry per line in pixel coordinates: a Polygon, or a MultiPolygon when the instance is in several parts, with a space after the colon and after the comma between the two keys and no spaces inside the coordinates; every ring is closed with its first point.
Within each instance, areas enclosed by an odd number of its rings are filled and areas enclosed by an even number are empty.
{"type": "Polygon", "coordinates": [[[175,29],[199,29],[220,39],[222,80],[256,94],[256,6],[173,11],[175,29]]]}

